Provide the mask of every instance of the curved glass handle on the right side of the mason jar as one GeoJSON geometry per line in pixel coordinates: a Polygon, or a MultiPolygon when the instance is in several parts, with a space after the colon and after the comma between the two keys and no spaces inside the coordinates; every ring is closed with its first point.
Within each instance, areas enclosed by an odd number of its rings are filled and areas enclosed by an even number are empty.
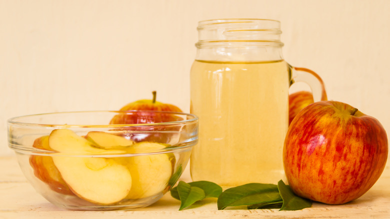
{"type": "Polygon", "coordinates": [[[291,69],[290,86],[292,83],[301,81],[307,83],[313,95],[314,102],[320,100],[327,100],[325,86],[321,77],[314,71],[304,67],[293,67],[291,69]]]}

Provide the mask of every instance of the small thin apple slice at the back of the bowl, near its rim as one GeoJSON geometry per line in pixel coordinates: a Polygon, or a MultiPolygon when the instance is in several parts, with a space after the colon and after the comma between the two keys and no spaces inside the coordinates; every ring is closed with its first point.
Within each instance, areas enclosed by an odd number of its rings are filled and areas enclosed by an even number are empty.
{"type": "Polygon", "coordinates": [[[92,142],[93,146],[102,149],[115,149],[134,144],[132,140],[104,131],[89,131],[85,138],[92,142]]]}

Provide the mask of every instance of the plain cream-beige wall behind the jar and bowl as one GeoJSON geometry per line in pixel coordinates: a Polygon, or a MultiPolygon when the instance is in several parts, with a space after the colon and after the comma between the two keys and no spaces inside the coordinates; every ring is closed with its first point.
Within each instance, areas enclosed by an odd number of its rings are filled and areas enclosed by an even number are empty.
{"type": "Polygon", "coordinates": [[[284,58],[390,131],[389,11],[388,0],[0,0],[0,155],[12,154],[12,116],[119,109],[153,89],[188,111],[197,21],[212,18],[280,20],[284,58]]]}

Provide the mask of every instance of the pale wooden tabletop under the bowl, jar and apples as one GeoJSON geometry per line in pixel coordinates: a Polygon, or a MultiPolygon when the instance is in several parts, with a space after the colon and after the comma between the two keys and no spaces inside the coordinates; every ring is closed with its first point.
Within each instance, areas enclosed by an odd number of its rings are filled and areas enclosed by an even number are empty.
{"type": "MultiPolygon", "coordinates": [[[[188,168],[180,180],[190,181],[188,168]]],[[[35,192],[23,176],[14,156],[0,157],[0,218],[390,218],[390,167],[360,198],[342,205],[314,202],[297,211],[277,209],[217,210],[216,199],[196,202],[178,210],[180,202],[166,193],[143,208],[119,211],[72,211],[56,207],[35,192]]]]}

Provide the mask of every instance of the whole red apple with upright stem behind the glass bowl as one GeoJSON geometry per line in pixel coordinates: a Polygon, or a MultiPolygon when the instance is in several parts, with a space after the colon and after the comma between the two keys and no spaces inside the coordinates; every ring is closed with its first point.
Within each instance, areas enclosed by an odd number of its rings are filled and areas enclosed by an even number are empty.
{"type": "MultiPolygon", "coordinates": [[[[143,124],[183,120],[182,117],[176,116],[172,113],[157,112],[182,111],[175,105],[156,101],[156,91],[153,91],[152,94],[153,99],[137,100],[120,108],[120,111],[123,112],[114,115],[110,121],[110,124],[143,124]]],[[[125,134],[124,137],[135,142],[147,140],[159,143],[168,143],[170,138],[174,136],[174,133],[177,132],[179,128],[180,127],[163,125],[128,126],[125,128],[126,131],[123,133],[125,134]],[[163,134],[161,130],[164,130],[166,134],[163,134]],[[169,133],[169,131],[171,132],[169,133]]]]}

